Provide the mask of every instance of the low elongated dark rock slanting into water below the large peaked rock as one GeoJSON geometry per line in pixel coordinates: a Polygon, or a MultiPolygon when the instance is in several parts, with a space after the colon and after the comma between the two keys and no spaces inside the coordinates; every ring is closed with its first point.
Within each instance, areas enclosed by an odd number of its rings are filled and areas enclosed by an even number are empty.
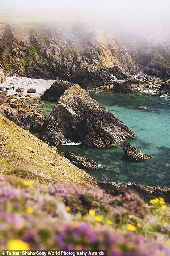
{"type": "Polygon", "coordinates": [[[77,166],[80,169],[98,169],[98,165],[94,160],[89,158],[83,158],[81,156],[76,156],[72,152],[66,151],[65,157],[70,161],[71,164],[77,166]]]}

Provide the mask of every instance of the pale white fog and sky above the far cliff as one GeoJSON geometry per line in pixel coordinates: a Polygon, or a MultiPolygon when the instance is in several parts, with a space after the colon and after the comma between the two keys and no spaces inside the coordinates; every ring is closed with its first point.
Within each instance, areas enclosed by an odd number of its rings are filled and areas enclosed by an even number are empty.
{"type": "Polygon", "coordinates": [[[170,0],[5,0],[0,15],[13,21],[86,22],[138,33],[170,33],[170,0]]]}

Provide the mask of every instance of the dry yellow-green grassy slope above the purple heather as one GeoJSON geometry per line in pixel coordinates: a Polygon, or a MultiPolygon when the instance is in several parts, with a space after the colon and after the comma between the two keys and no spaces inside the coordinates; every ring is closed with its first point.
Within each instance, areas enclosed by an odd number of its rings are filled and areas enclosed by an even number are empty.
{"type": "Polygon", "coordinates": [[[0,116],[0,171],[41,183],[72,183],[96,185],[86,172],[69,163],[34,135],[0,116]]]}

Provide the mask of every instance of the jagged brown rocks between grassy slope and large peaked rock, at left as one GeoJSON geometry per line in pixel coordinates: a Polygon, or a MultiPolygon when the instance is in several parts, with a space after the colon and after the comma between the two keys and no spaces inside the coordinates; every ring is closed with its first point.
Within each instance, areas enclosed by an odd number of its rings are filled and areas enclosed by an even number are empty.
{"type": "Polygon", "coordinates": [[[16,125],[24,130],[33,132],[41,132],[44,120],[46,119],[46,116],[37,116],[34,113],[29,113],[24,110],[17,113],[10,108],[10,106],[4,105],[0,105],[0,114],[16,123],[16,125]]]}

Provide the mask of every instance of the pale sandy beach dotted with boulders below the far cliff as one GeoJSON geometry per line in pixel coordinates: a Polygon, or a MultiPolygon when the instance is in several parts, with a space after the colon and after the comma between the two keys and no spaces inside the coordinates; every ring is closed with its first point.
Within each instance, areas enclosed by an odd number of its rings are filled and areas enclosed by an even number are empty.
{"type": "Polygon", "coordinates": [[[44,80],[44,79],[34,79],[34,78],[27,78],[27,77],[7,77],[6,83],[2,84],[1,87],[5,89],[5,87],[11,88],[14,86],[13,89],[8,90],[8,95],[14,95],[16,92],[16,89],[19,87],[23,87],[25,89],[25,92],[23,92],[24,95],[30,95],[30,96],[39,96],[44,93],[44,91],[55,82],[55,80],[44,80]],[[27,90],[33,88],[36,89],[36,93],[28,93],[27,90]]]}

